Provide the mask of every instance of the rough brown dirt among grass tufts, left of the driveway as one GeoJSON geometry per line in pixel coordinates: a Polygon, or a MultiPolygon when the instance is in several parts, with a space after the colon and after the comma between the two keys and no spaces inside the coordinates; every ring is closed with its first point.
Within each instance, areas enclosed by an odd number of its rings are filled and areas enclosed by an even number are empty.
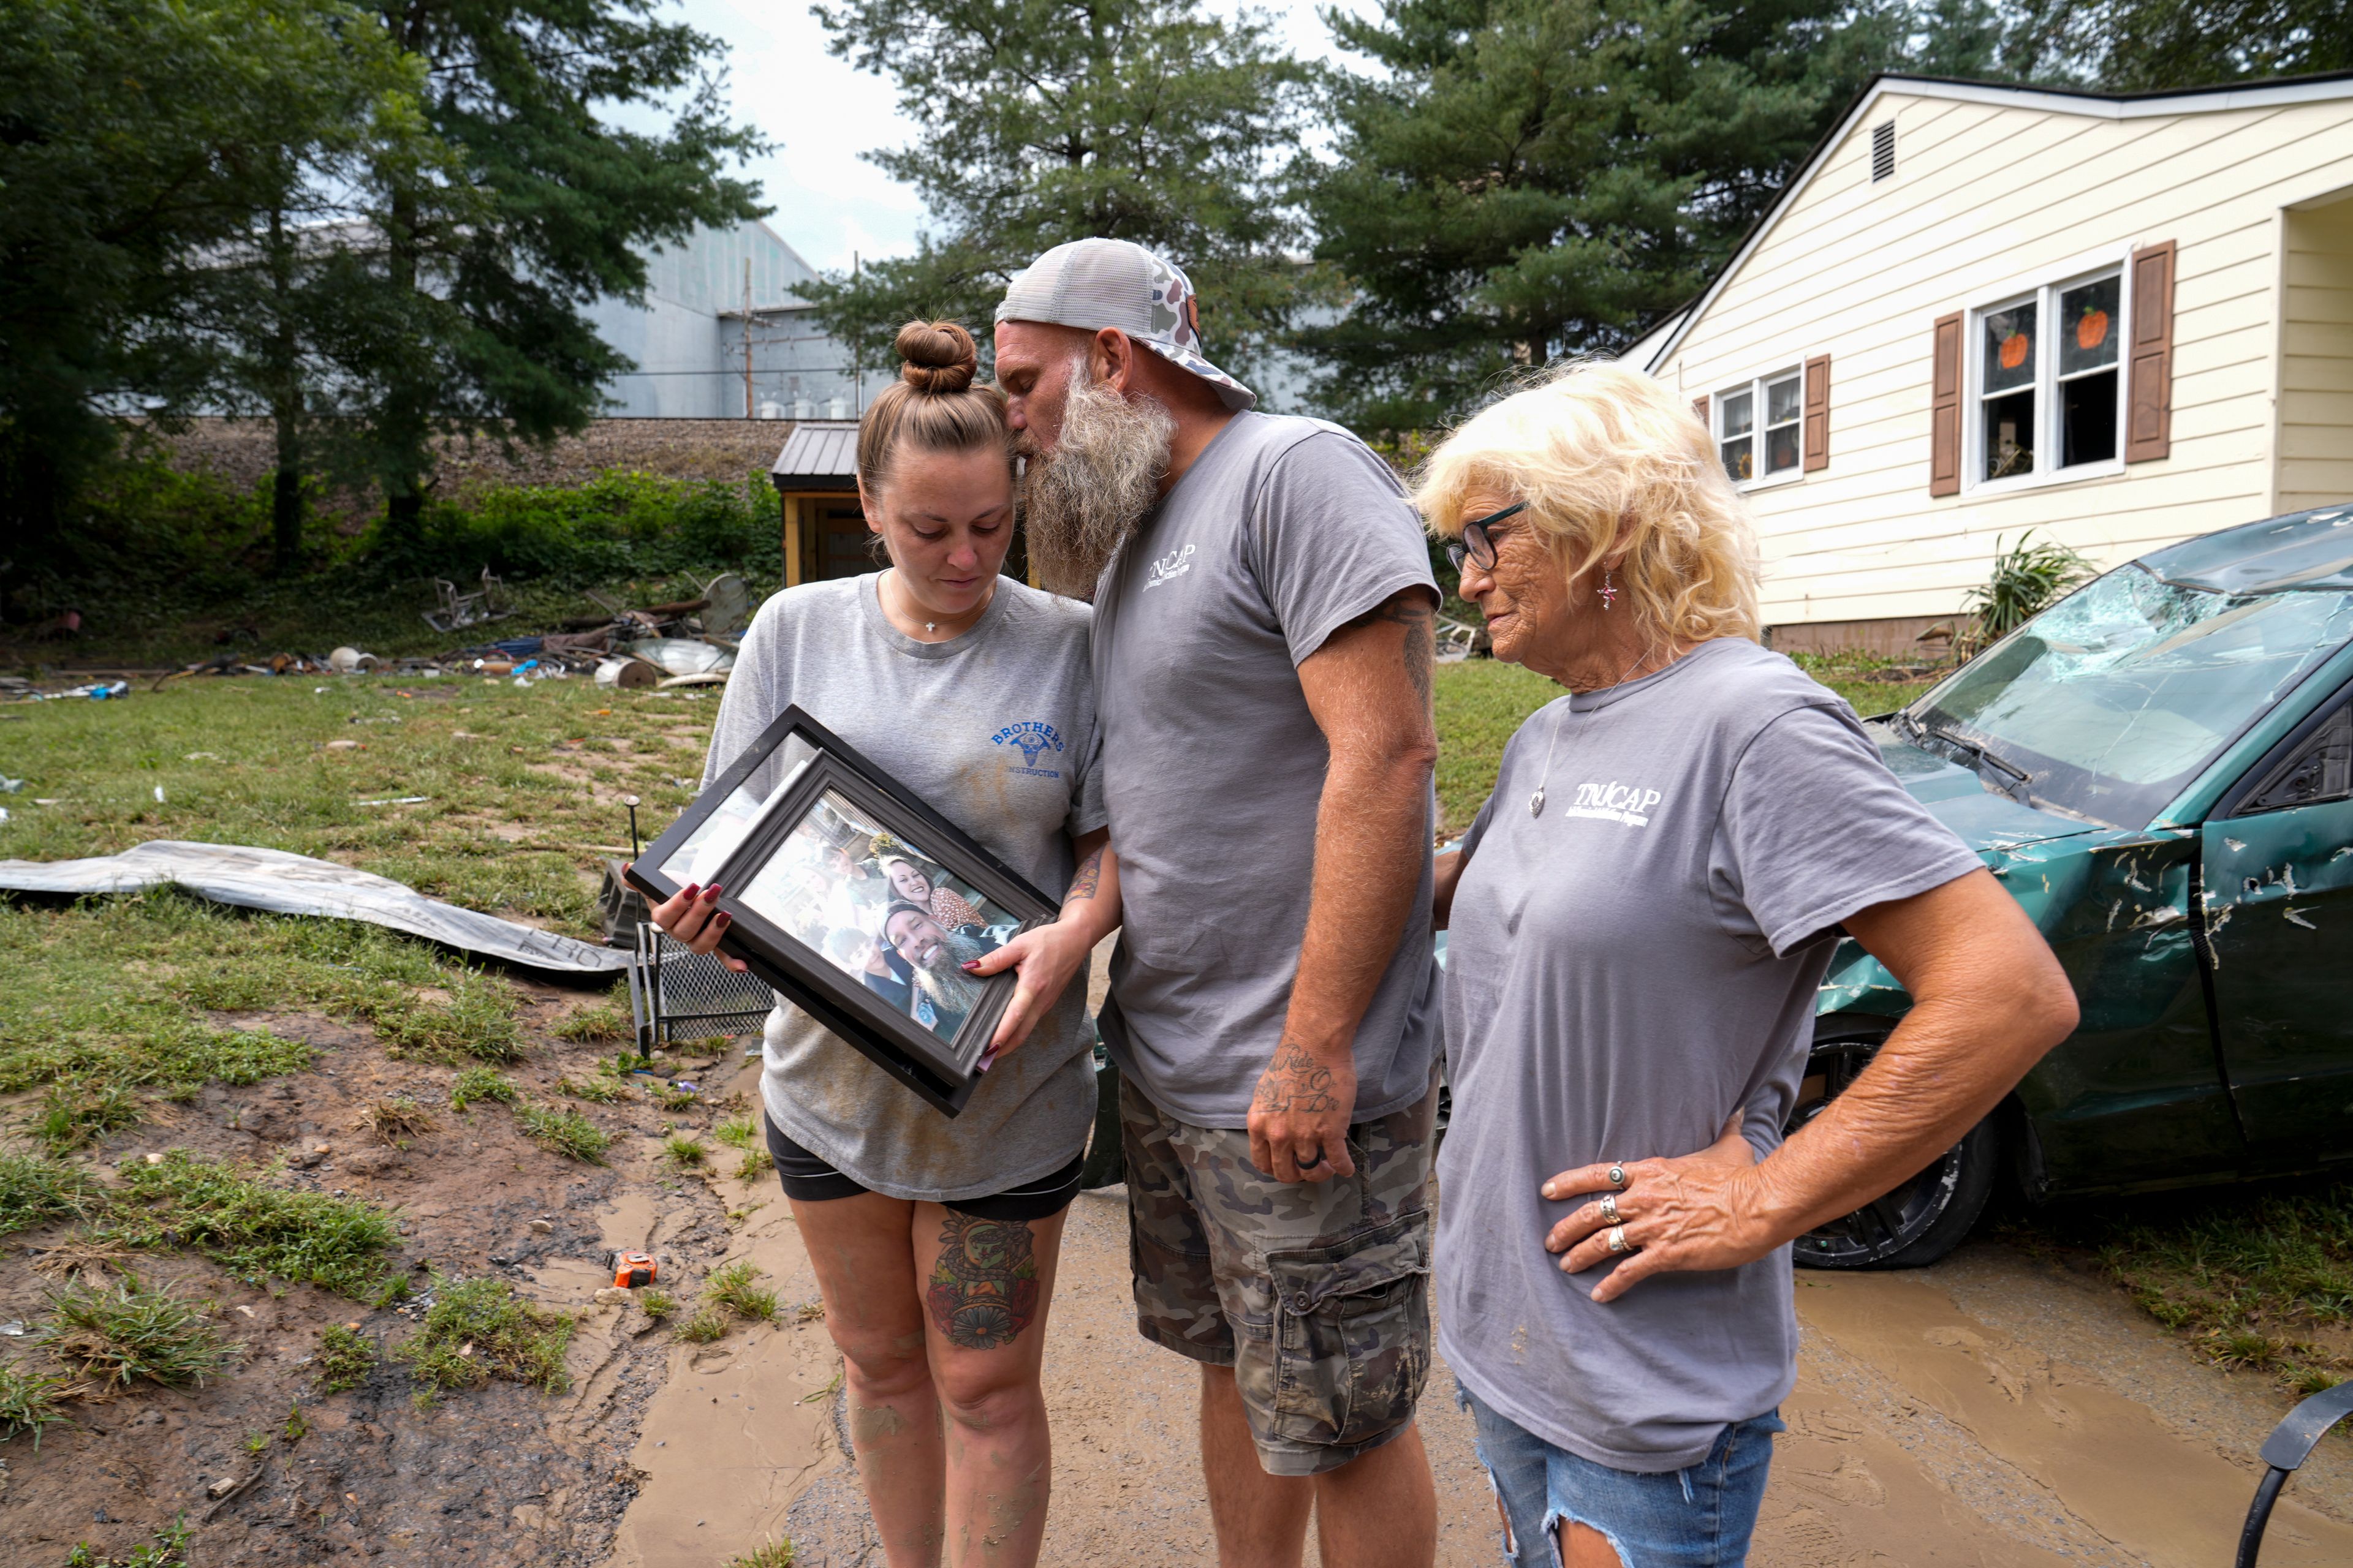
{"type": "MultiPolygon", "coordinates": [[[[527,983],[522,990],[536,1046],[511,1077],[532,1098],[553,1100],[558,1077],[588,1077],[612,1046],[548,1034],[551,1023],[595,997],[527,983]]],[[[506,1105],[449,1112],[456,1070],[388,1060],[367,1027],[308,1013],[219,1023],[308,1039],[322,1048],[320,1070],[252,1088],[207,1086],[172,1124],[113,1138],[94,1166],[162,1150],[202,1159],[282,1154],[294,1185],[398,1208],[400,1262],[414,1291],[428,1291],[433,1274],[504,1276],[581,1312],[567,1356],[572,1389],[548,1399],[494,1382],[419,1408],[407,1368],[386,1359],[362,1387],[318,1394],[311,1359],[322,1328],[351,1324],[379,1349],[391,1347],[414,1333],[419,1302],[367,1309],[311,1286],[240,1284],[200,1258],[141,1255],[118,1267],[209,1298],[245,1352],[231,1375],[200,1389],[134,1385],[111,1401],[78,1401],[71,1425],[49,1427],[38,1450],[24,1436],[0,1446],[0,1563],[61,1568],[80,1542],[101,1559],[127,1556],[174,1519],[195,1526],[186,1556],[198,1568],[605,1561],[638,1493],[628,1450],[666,1378],[668,1335],[649,1333],[642,1312],[593,1302],[595,1286],[609,1284],[595,1260],[609,1213],[659,1211],[664,1284],[692,1298],[729,1246],[725,1199],[706,1180],[666,1175],[645,1150],[659,1150],[666,1128],[708,1126],[722,1107],[664,1114],[645,1100],[572,1103],[616,1135],[612,1164],[591,1166],[527,1143],[506,1105]],[[358,1121],[393,1093],[438,1107],[438,1126],[405,1150],[376,1143],[358,1121]],[[544,1272],[555,1288],[536,1284],[544,1272]],[[287,1441],[296,1403],[308,1432],[287,1441]],[[214,1497],[224,1483],[228,1495],[214,1497]]],[[[682,1072],[696,1065],[678,1063],[682,1072]]],[[[26,1262],[61,1234],[52,1227],[9,1239],[0,1321],[42,1314],[54,1281],[26,1262]]]]}

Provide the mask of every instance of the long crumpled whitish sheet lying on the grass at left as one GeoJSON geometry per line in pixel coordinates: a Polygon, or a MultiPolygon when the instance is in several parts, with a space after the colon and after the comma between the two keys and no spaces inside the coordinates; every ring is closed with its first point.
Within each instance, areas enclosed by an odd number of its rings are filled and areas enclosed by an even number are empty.
{"type": "Polygon", "coordinates": [[[214,903],[273,914],[365,919],[435,943],[532,969],[605,973],[628,969],[628,954],[569,936],[518,926],[454,903],[426,898],[405,882],[358,872],[334,860],[245,844],[153,839],[92,860],[0,860],[0,889],[19,893],[136,893],[176,882],[214,903]]]}

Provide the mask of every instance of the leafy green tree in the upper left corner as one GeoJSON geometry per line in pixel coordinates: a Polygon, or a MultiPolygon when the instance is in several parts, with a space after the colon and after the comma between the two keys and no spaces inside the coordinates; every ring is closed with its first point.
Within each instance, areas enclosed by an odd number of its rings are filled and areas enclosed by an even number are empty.
{"type": "MultiPolygon", "coordinates": [[[[0,0],[0,512],[19,559],[118,423],[219,369],[207,287],[344,94],[313,0],[0,0]]],[[[391,85],[393,89],[398,85],[391,85]]]]}

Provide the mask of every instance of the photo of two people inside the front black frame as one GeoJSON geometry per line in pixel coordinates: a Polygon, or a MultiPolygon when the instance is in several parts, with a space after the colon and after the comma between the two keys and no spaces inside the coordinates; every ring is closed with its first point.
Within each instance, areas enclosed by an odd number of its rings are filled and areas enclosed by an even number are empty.
{"type": "Polygon", "coordinates": [[[1016,914],[838,790],[802,809],[734,896],[941,1041],[955,1039],[988,985],[965,964],[1021,929],[1016,914]]]}

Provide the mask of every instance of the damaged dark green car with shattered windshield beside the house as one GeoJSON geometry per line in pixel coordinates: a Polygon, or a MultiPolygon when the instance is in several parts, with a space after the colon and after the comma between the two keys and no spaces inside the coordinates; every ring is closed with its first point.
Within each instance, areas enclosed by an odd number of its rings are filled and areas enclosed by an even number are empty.
{"type": "MultiPolygon", "coordinates": [[[[2341,505],[2120,567],[1868,722],[2042,929],[2082,1023],[1941,1161],[1800,1237],[1798,1262],[1932,1262],[2005,1171],[2042,1199],[2353,1157],[2348,639],[2341,505]]],[[[1793,1131],[1908,1006],[1840,943],[1793,1131]]]]}

